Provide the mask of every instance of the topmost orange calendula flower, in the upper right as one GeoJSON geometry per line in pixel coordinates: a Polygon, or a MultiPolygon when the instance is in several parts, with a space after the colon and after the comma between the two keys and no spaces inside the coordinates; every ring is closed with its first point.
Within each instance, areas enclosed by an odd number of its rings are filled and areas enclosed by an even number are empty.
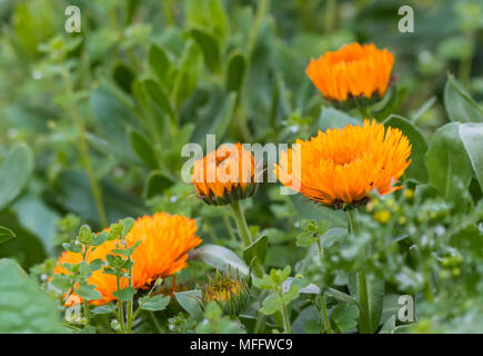
{"type": "Polygon", "coordinates": [[[305,72],[326,99],[345,101],[350,97],[371,98],[374,92],[383,97],[393,63],[394,57],[386,49],[354,42],[312,58],[305,72]]]}

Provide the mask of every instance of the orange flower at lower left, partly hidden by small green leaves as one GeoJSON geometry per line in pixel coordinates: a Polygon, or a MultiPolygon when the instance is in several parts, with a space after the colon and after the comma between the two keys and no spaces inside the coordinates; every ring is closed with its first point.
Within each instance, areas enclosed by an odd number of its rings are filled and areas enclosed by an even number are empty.
{"type": "MultiPolygon", "coordinates": [[[[195,231],[195,220],[179,215],[158,212],[152,217],[138,218],[125,238],[129,247],[141,241],[132,255],[133,287],[147,288],[159,277],[167,277],[185,268],[188,251],[201,244],[201,239],[194,235],[195,231]]],[[[105,255],[111,254],[113,248],[119,248],[119,240],[105,241],[89,251],[87,259],[88,261],[98,258],[105,259],[105,255]]],[[[67,274],[68,271],[60,266],[62,263],[78,264],[81,260],[81,254],[66,251],[60,256],[53,271],[54,274],[67,274]]],[[[101,299],[91,300],[91,304],[102,305],[115,299],[112,295],[118,289],[115,276],[95,270],[89,277],[88,283],[94,285],[102,295],[101,299]]],[[[128,280],[123,279],[121,287],[127,286],[128,280]]],[[[66,305],[69,306],[80,300],[73,295],[66,305]]]]}

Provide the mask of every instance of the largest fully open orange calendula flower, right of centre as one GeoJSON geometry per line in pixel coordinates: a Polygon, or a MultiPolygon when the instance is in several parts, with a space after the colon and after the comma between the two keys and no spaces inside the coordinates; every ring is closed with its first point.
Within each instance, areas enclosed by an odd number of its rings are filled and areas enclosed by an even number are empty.
{"type": "Polygon", "coordinates": [[[400,189],[394,185],[411,164],[407,138],[375,120],[319,131],[296,144],[275,165],[279,180],[288,187],[295,180],[305,197],[335,209],[364,204],[373,189],[380,195],[400,189]]]}

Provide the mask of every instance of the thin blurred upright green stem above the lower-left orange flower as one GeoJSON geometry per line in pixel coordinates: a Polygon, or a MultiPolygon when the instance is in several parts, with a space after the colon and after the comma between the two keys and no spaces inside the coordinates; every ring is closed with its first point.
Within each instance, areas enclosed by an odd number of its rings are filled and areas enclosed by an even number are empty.
{"type": "Polygon", "coordinates": [[[72,100],[72,103],[68,106],[68,110],[70,111],[70,116],[73,119],[73,122],[76,125],[77,131],[78,131],[78,146],[79,151],[81,154],[82,164],[84,166],[85,172],[88,175],[89,185],[91,187],[92,196],[94,198],[95,208],[99,214],[99,220],[103,227],[108,225],[108,218],[105,215],[104,204],[102,201],[102,190],[101,187],[98,185],[98,181],[94,176],[94,171],[92,169],[91,160],[89,157],[89,146],[85,139],[85,128],[83,120],[80,116],[79,109],[74,102],[73,96],[73,88],[70,79],[70,73],[67,68],[62,70],[62,75],[66,82],[66,92],[70,100],[72,100]]]}

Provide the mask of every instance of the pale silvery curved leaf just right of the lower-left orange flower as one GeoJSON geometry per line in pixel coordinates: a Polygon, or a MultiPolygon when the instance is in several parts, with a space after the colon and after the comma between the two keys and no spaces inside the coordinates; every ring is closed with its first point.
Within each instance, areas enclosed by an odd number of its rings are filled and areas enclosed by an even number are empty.
{"type": "Polygon", "coordinates": [[[190,259],[201,259],[205,264],[228,273],[229,268],[241,275],[249,274],[246,264],[235,253],[218,245],[203,245],[190,254],[190,259]]]}

